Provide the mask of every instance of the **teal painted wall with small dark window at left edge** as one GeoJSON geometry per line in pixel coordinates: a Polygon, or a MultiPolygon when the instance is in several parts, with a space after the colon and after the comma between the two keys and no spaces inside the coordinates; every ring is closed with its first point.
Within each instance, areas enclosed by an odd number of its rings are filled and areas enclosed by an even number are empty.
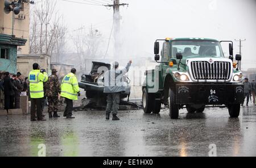
{"type": "Polygon", "coordinates": [[[16,60],[17,60],[16,46],[0,44],[0,48],[9,48],[10,49],[9,60],[0,58],[0,71],[6,71],[6,72],[13,73],[13,74],[16,73],[16,60]]]}

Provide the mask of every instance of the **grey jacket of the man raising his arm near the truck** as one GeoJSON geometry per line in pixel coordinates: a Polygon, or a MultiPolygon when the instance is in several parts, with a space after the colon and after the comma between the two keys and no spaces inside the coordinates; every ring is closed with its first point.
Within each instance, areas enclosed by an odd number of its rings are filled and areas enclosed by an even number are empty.
{"type": "Polygon", "coordinates": [[[118,93],[125,91],[126,83],[123,82],[125,75],[131,64],[127,64],[124,69],[110,69],[104,74],[104,93],[118,93]]]}

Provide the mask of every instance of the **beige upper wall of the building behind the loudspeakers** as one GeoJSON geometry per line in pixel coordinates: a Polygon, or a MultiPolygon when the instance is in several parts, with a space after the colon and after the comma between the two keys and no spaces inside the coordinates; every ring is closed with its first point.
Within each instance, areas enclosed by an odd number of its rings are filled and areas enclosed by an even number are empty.
{"type": "MultiPolygon", "coordinates": [[[[13,27],[13,12],[5,14],[3,8],[5,0],[0,0],[0,33],[11,35],[13,27]]],[[[27,54],[29,51],[29,30],[30,30],[30,3],[24,3],[24,10],[20,10],[19,15],[14,19],[14,35],[21,39],[27,39],[27,43],[21,46],[20,53],[27,54]],[[25,16],[25,19],[18,19],[18,16],[25,16]]]]}

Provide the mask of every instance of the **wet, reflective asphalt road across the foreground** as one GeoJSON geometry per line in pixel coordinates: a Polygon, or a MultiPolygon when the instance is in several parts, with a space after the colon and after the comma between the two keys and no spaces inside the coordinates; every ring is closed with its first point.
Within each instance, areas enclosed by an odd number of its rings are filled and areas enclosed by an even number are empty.
{"type": "Polygon", "coordinates": [[[75,119],[30,121],[29,115],[0,116],[0,156],[256,156],[256,106],[232,119],[226,108],[203,114],[180,111],[171,120],[142,110],[120,111],[120,121],[105,120],[104,111],[74,112],[75,119]]]}

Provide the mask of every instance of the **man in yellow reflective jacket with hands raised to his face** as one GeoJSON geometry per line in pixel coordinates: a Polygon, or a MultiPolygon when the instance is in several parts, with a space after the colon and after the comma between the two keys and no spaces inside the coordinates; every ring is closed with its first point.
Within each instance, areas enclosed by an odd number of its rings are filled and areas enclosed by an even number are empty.
{"type": "Polygon", "coordinates": [[[30,98],[31,98],[31,111],[30,120],[36,121],[35,119],[35,106],[38,121],[46,121],[43,118],[41,111],[42,98],[44,97],[43,82],[48,80],[48,75],[45,71],[40,72],[40,67],[37,63],[33,64],[33,70],[28,75],[28,81],[30,82],[30,98]]]}

